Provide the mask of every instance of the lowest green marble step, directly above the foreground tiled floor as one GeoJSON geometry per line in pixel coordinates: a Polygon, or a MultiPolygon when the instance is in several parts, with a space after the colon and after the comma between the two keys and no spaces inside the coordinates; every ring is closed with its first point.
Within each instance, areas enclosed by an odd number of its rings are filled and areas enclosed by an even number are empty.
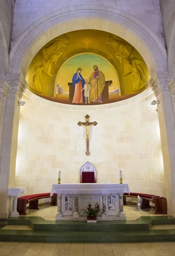
{"type": "Polygon", "coordinates": [[[175,241],[175,230],[36,231],[0,230],[0,241],[47,243],[119,243],[175,241]]]}

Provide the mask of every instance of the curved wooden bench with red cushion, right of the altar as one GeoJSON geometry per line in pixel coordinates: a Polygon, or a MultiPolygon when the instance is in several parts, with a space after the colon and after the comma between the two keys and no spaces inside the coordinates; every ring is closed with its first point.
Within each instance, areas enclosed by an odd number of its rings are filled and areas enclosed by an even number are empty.
{"type": "Polygon", "coordinates": [[[124,193],[123,195],[123,204],[126,205],[126,198],[137,198],[137,196],[143,200],[141,209],[150,208],[150,201],[155,204],[155,214],[167,214],[167,199],[157,196],[157,195],[149,195],[149,194],[141,194],[141,193],[124,193]]]}

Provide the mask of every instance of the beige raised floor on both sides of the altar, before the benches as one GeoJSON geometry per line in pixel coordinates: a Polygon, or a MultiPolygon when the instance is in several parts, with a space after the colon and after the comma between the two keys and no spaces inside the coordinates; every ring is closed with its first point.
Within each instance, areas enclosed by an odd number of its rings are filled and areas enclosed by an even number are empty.
{"type": "MultiPolygon", "coordinates": [[[[51,206],[50,204],[39,206],[39,210],[28,209],[26,211],[26,216],[40,216],[45,218],[45,220],[55,220],[57,207],[51,206]]],[[[127,220],[136,220],[141,216],[155,216],[154,209],[150,212],[151,209],[144,209],[140,212],[137,211],[135,205],[126,205],[124,206],[124,213],[126,214],[127,220]]],[[[158,215],[160,216],[160,215],[158,215]]]]}

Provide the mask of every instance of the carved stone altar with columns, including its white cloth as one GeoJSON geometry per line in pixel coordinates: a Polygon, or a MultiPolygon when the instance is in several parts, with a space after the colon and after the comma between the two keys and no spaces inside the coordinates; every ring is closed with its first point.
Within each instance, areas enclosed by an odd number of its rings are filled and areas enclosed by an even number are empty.
{"type": "Polygon", "coordinates": [[[119,183],[54,184],[51,196],[54,193],[58,196],[56,220],[85,220],[81,210],[96,203],[106,211],[106,215],[97,220],[125,220],[123,194],[129,192],[128,184],[119,183]]]}

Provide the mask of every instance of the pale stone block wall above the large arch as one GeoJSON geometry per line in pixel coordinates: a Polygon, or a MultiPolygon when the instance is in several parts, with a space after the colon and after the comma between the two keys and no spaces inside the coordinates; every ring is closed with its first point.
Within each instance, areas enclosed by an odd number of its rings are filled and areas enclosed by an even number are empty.
{"type": "Polygon", "coordinates": [[[13,41],[16,41],[35,20],[49,12],[81,4],[91,5],[90,8],[92,8],[92,4],[104,5],[128,12],[149,26],[164,43],[158,0],[17,0],[13,41]]]}

